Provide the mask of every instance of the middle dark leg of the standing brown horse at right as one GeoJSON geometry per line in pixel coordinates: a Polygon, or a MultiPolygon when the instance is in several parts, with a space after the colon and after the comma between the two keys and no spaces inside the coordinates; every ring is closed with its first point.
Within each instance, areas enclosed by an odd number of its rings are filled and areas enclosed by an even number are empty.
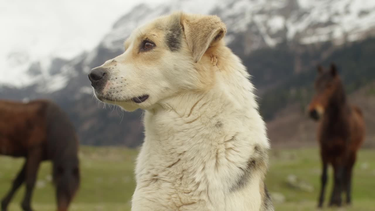
{"type": "Polygon", "coordinates": [[[343,181],[343,173],[344,168],[343,165],[340,162],[334,162],[333,163],[333,170],[334,170],[334,185],[333,185],[333,191],[331,195],[331,200],[329,205],[337,205],[341,206],[341,193],[342,193],[342,181],[343,181]]]}

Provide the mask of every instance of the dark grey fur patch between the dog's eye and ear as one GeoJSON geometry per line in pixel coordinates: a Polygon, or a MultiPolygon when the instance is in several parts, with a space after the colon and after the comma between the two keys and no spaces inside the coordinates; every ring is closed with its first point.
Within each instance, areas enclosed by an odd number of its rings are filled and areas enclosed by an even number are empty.
{"type": "Polygon", "coordinates": [[[182,42],[182,27],[178,19],[173,20],[165,35],[165,42],[171,51],[178,51],[181,48],[182,42]]]}

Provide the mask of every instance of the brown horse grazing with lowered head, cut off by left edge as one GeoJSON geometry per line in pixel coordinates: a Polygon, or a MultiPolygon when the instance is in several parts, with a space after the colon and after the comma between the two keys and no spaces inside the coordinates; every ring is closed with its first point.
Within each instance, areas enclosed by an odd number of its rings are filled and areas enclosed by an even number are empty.
{"type": "Polygon", "coordinates": [[[58,211],[66,211],[80,184],[78,139],[68,116],[46,100],[28,103],[0,101],[0,154],[25,157],[26,161],[1,200],[6,211],[13,194],[25,182],[24,211],[31,211],[31,195],[39,164],[53,163],[58,211]]]}

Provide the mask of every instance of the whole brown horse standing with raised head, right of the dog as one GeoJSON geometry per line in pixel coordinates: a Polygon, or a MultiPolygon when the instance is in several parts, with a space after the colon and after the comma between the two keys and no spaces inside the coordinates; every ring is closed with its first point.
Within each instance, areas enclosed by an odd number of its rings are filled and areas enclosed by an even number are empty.
{"type": "Polygon", "coordinates": [[[329,205],[341,206],[342,192],[346,193],[346,202],[350,204],[352,169],[365,137],[362,112],[348,103],[334,64],[327,71],[318,66],[315,92],[309,105],[309,115],[315,120],[321,119],[318,140],[323,173],[318,206],[323,206],[328,164],[332,164],[334,169],[334,186],[329,205]]]}

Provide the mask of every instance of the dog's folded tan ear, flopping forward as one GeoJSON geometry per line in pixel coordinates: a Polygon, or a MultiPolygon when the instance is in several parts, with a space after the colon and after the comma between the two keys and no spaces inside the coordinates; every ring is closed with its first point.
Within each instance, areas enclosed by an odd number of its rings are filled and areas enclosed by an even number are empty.
{"type": "Polygon", "coordinates": [[[225,24],[216,15],[183,14],[181,25],[195,63],[199,62],[207,49],[217,44],[226,32],[225,24]]]}

